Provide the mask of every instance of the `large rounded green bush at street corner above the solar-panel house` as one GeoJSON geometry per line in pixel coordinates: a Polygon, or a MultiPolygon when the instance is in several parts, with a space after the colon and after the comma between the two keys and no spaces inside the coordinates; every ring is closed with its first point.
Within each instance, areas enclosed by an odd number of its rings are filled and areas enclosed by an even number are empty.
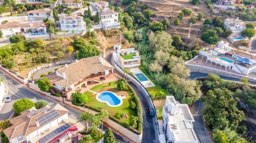
{"type": "Polygon", "coordinates": [[[20,100],[17,100],[13,105],[12,105],[15,114],[20,115],[20,112],[23,112],[27,109],[30,109],[32,107],[35,107],[35,104],[33,101],[31,101],[28,98],[23,98],[20,100]]]}

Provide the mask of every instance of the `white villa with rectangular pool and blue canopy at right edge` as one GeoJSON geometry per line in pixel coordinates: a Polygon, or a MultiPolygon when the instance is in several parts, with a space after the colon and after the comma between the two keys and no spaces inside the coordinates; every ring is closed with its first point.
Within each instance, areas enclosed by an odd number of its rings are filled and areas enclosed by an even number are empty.
{"type": "Polygon", "coordinates": [[[199,50],[198,58],[205,59],[206,63],[210,62],[216,68],[225,67],[225,70],[245,75],[256,72],[256,56],[231,48],[224,41],[219,42],[217,47],[206,48],[206,51],[199,50]]]}

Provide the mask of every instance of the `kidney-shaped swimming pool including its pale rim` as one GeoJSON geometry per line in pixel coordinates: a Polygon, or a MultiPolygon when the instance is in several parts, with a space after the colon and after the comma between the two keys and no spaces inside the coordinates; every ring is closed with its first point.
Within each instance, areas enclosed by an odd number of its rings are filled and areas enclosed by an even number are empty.
{"type": "Polygon", "coordinates": [[[119,107],[123,101],[115,93],[111,91],[104,91],[96,95],[96,99],[100,102],[105,102],[110,107],[119,107]]]}

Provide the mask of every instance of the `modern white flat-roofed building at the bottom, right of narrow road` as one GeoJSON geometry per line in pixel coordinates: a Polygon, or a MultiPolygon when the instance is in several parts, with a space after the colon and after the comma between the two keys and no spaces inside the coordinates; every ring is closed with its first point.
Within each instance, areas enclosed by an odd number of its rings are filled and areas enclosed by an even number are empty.
{"type": "Polygon", "coordinates": [[[174,96],[166,96],[163,127],[167,143],[199,143],[193,129],[194,118],[187,104],[178,104],[174,96]]]}

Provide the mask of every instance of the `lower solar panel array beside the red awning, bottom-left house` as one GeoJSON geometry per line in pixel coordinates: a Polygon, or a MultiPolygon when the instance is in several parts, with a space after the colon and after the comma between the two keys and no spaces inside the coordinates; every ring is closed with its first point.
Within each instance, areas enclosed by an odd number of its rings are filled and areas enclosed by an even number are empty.
{"type": "Polygon", "coordinates": [[[39,139],[40,143],[47,143],[50,140],[52,140],[54,137],[57,137],[60,135],[62,132],[66,131],[67,129],[70,128],[70,125],[68,123],[65,123],[64,125],[58,127],[57,129],[53,130],[49,134],[45,135],[41,139],[39,139]]]}

